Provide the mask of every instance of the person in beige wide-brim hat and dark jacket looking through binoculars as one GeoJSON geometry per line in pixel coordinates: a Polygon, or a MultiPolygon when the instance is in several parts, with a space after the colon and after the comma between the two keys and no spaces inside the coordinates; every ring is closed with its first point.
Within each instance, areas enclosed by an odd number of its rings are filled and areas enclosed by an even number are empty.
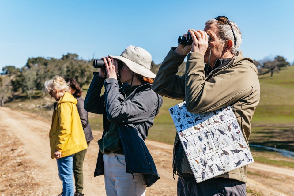
{"type": "Polygon", "coordinates": [[[106,68],[94,73],[84,104],[86,111],[104,116],[94,176],[104,174],[107,195],[145,195],[159,174],[144,140],[163,103],[151,89],[156,76],[151,55],[129,46],[120,56],[102,59],[106,68]]]}

